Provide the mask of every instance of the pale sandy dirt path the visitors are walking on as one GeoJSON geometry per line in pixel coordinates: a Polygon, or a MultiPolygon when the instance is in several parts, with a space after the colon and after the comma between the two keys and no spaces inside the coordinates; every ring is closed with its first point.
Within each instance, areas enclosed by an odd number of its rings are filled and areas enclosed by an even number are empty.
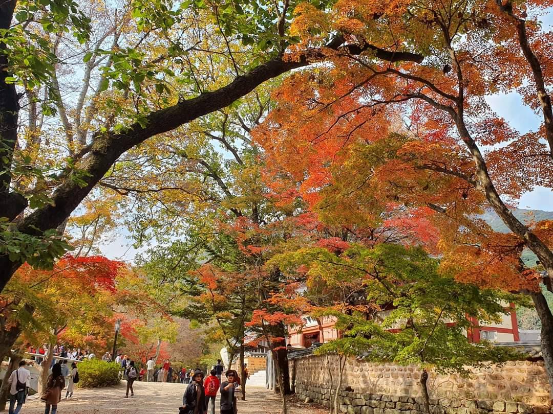
{"type": "MultiPolygon", "coordinates": [[[[75,390],[72,400],[62,400],[58,405],[59,414],[178,414],[182,405],[184,384],[134,383],[134,397],[124,398],[126,383],[112,388],[75,390]]],[[[65,394],[62,394],[65,395],[65,394]]],[[[280,398],[264,388],[246,389],[247,401],[238,401],[238,414],[280,414],[280,398]]],[[[217,398],[216,414],[219,413],[217,398]]],[[[208,411],[210,412],[210,411],[208,411]]],[[[292,404],[289,414],[322,414],[304,404],[292,404]]],[[[30,397],[23,406],[22,414],[43,414],[44,403],[30,397]]]]}

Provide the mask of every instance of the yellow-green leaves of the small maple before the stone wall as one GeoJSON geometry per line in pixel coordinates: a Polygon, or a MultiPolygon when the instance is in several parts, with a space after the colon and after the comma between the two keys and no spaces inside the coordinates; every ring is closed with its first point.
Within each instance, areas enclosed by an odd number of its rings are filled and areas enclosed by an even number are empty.
{"type": "Polygon", "coordinates": [[[345,314],[326,309],[316,317],[334,316],[344,337],[324,344],[317,353],[362,355],[373,361],[415,364],[439,372],[466,374],[467,366],[500,363],[520,355],[489,342],[471,343],[471,320],[498,322],[500,300],[515,301],[489,289],[456,282],[440,274],[438,261],[421,248],[353,245],[340,256],[324,249],[306,250],[294,259],[306,260],[310,275],[321,283],[359,281],[363,304],[345,314]],[[346,269],[346,270],[343,270],[346,269]],[[346,275],[344,274],[346,273],[346,275]],[[359,307],[363,307],[363,311],[359,307]],[[371,318],[367,315],[372,314],[371,318]]]}

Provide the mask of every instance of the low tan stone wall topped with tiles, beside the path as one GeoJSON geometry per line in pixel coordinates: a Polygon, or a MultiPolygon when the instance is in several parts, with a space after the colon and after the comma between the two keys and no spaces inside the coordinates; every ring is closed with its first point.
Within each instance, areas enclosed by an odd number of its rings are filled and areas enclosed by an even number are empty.
{"type": "MultiPolygon", "coordinates": [[[[337,384],[335,355],[291,359],[296,394],[330,406],[337,384]],[[333,374],[331,384],[328,363],[333,374]]],[[[416,367],[349,359],[343,372],[340,410],[352,414],[419,414],[421,371],[416,367]]],[[[435,414],[550,412],[549,384],[542,362],[517,361],[460,375],[429,373],[428,389],[435,414]]]]}

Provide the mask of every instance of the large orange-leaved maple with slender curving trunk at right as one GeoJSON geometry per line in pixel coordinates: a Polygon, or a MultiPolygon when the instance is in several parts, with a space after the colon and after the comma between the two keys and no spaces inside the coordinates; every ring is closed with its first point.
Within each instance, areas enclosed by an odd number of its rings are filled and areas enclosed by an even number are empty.
{"type": "Polygon", "coordinates": [[[322,214],[362,220],[367,203],[385,199],[403,210],[399,220],[426,227],[444,255],[441,266],[460,269],[459,280],[528,293],[553,383],[553,318],[540,278],[520,259],[524,248],[533,251],[550,287],[551,224],[525,225],[509,210],[536,185],[552,187],[544,43],[551,33],[538,23],[542,6],[337,2],[325,13],[298,7],[293,28],[306,44],[320,44],[321,33],[334,29],[352,42],[401,38],[425,59],[393,65],[330,51],[331,64],[286,79],[274,94],[278,107],[254,135],[269,154],[272,176],[284,172],[299,183],[322,214]],[[494,114],[485,98],[498,92],[520,93],[543,116],[539,130],[520,134],[494,114]],[[349,211],[336,213],[340,205],[349,211]],[[511,233],[493,232],[478,218],[489,208],[511,233]]]}

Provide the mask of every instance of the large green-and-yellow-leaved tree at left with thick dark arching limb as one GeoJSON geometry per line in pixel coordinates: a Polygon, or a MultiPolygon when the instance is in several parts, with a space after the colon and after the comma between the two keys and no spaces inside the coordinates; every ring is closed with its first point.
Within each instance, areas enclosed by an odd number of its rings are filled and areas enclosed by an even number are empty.
{"type": "MultiPolygon", "coordinates": [[[[0,205],[9,225],[2,227],[0,288],[25,261],[47,267],[61,256],[67,246],[49,230],[69,218],[123,153],[227,107],[270,78],[325,59],[318,47],[290,49],[297,41],[289,24],[295,6],[4,4],[0,205]],[[202,77],[201,62],[220,61],[231,66],[228,76],[202,77]],[[60,92],[69,69],[84,73],[84,83],[64,102],[60,92]],[[49,120],[58,133],[44,128],[49,120]],[[61,140],[55,162],[36,156],[52,150],[48,136],[61,140]],[[24,248],[8,255],[4,246],[10,243],[24,248]]],[[[328,36],[326,44],[375,59],[421,61],[399,46],[346,44],[340,34],[328,36]]]]}

